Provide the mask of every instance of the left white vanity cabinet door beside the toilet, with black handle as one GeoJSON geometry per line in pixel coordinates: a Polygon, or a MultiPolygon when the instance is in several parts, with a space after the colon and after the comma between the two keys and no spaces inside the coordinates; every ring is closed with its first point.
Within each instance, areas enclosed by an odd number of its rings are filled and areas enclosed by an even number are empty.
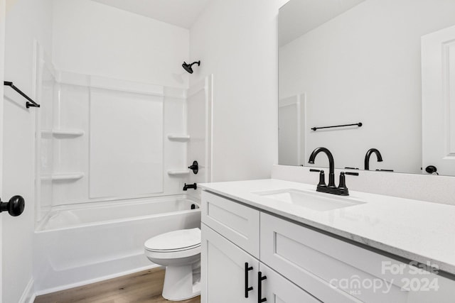
{"type": "Polygon", "coordinates": [[[201,225],[201,229],[201,302],[257,302],[259,261],[205,224],[201,225]],[[245,263],[252,269],[245,270],[245,263]],[[247,298],[246,278],[247,286],[252,287],[247,292],[247,298]]]}

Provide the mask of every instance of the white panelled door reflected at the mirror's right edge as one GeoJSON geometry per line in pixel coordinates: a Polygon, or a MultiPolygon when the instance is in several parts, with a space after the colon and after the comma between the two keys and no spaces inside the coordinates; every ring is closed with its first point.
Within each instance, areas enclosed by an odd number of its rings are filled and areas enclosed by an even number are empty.
{"type": "Polygon", "coordinates": [[[455,175],[455,26],[422,37],[422,168],[455,175]]]}

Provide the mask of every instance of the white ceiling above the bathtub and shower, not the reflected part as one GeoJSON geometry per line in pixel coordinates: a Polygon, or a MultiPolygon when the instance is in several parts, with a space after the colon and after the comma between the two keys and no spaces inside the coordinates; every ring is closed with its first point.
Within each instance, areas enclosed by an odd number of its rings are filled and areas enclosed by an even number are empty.
{"type": "Polygon", "coordinates": [[[142,16],[190,28],[210,0],[93,0],[142,16]]]}

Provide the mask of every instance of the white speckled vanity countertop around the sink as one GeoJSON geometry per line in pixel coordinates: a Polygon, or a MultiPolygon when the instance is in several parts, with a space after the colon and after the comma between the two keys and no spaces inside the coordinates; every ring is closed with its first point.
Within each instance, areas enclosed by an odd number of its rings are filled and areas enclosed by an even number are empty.
{"type": "Polygon", "coordinates": [[[367,203],[314,211],[252,192],[275,189],[316,192],[316,184],[267,179],[198,186],[402,258],[429,262],[455,275],[455,206],[350,191],[348,199],[367,203]]]}

